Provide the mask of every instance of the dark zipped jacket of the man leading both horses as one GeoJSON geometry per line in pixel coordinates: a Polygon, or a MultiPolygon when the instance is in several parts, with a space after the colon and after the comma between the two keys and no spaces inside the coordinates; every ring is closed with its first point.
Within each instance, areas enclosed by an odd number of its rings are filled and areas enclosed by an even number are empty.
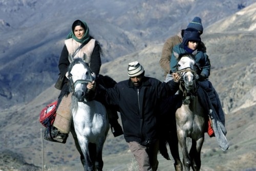
{"type": "Polygon", "coordinates": [[[168,83],[151,77],[143,77],[139,88],[132,81],[118,82],[114,88],[97,87],[96,100],[117,106],[121,114],[126,142],[156,140],[159,114],[157,104],[162,98],[177,92],[179,84],[173,80],[168,83]]]}

